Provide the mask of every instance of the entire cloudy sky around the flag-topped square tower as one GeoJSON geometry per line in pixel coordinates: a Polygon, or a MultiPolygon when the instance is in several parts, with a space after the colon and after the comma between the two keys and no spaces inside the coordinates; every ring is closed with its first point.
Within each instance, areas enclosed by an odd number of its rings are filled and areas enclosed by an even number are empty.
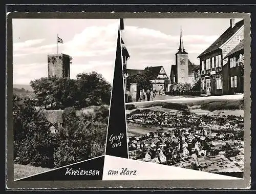
{"type": "Polygon", "coordinates": [[[48,76],[48,54],[72,56],[70,77],[96,71],[112,82],[119,19],[13,19],[13,83],[48,76]]]}

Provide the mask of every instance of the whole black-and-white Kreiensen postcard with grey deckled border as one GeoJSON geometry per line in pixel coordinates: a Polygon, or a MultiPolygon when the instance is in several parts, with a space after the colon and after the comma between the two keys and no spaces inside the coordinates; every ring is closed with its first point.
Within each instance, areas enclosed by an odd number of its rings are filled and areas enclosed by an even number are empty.
{"type": "Polygon", "coordinates": [[[6,189],[250,188],[249,13],[7,15],[6,189]]]}

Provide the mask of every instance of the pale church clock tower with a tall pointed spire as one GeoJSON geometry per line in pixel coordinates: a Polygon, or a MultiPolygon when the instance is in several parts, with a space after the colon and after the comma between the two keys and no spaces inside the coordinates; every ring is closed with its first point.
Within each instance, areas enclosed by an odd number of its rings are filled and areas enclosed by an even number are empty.
{"type": "Polygon", "coordinates": [[[184,49],[182,30],[180,31],[180,47],[176,55],[177,83],[188,83],[188,53],[184,49]]]}

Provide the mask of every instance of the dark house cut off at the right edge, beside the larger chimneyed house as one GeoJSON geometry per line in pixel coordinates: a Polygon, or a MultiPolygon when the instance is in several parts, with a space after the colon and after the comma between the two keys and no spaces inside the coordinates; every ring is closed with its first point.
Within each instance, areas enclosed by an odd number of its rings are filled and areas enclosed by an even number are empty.
{"type": "Polygon", "coordinates": [[[226,66],[223,66],[223,94],[244,93],[244,41],[231,50],[225,57],[226,66]]]}

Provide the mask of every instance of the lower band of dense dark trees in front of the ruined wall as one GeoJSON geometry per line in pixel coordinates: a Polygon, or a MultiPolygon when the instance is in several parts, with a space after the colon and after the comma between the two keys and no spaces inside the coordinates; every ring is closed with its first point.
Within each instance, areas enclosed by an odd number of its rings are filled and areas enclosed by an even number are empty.
{"type": "Polygon", "coordinates": [[[32,100],[13,107],[14,162],[41,167],[60,167],[104,154],[109,105],[93,106],[77,115],[74,107],[62,114],[63,127],[52,134],[42,109],[32,100]],[[90,121],[88,127],[86,121],[90,121]]]}

